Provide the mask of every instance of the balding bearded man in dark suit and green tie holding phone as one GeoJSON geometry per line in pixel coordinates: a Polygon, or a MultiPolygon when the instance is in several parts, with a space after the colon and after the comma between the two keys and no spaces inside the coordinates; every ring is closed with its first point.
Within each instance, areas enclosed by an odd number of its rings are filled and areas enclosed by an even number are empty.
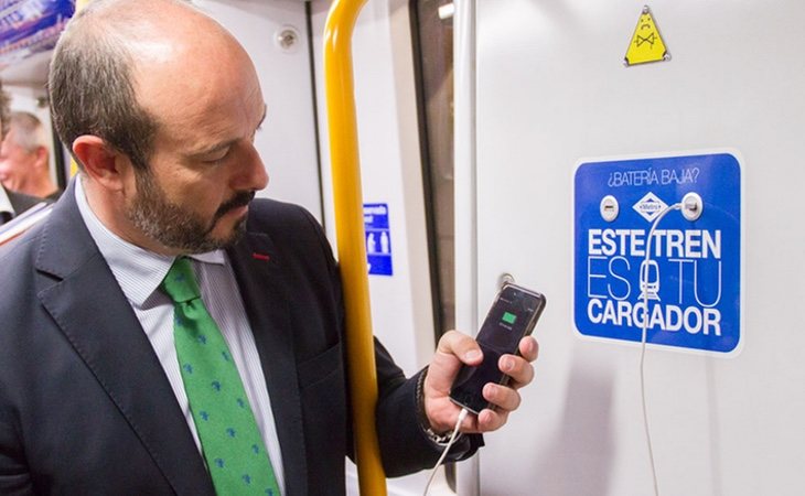
{"type": "MultiPolygon", "coordinates": [[[[182,1],[99,0],[49,88],[80,172],[0,255],[0,493],[344,494],[337,267],[309,213],[251,201],[266,104],[243,47],[182,1]]],[[[519,405],[537,344],[519,351],[453,460],[519,405]]],[[[408,379],[376,353],[386,472],[432,466],[480,348],[448,333],[408,379]]]]}

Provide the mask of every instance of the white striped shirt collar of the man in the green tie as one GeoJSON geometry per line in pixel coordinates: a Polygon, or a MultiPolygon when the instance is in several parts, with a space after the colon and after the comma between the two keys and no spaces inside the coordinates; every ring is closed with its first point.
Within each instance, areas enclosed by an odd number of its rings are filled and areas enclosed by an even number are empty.
{"type": "MultiPolygon", "coordinates": [[[[87,203],[82,177],[77,177],[76,181],[75,200],[89,235],[106,259],[124,294],[133,305],[143,306],[146,300],[168,274],[175,257],[146,250],[110,231],[87,203]]],[[[224,250],[221,249],[190,257],[204,263],[225,263],[224,250]]]]}

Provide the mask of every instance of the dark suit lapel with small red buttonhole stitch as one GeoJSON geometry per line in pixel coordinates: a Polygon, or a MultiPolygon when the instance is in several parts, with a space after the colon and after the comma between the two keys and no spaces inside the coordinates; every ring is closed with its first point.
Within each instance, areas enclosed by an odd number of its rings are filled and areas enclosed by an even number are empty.
{"type": "Polygon", "coordinates": [[[249,233],[229,249],[229,258],[266,376],[282,449],[286,493],[308,494],[302,407],[279,256],[267,235],[249,233]]]}

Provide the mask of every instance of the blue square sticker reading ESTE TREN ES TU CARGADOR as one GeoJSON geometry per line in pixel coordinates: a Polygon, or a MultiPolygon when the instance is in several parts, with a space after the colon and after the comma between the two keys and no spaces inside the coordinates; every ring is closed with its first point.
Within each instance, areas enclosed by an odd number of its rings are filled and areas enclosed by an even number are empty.
{"type": "Polygon", "coordinates": [[[645,325],[652,345],[739,349],[741,166],[733,154],[583,162],[573,190],[573,312],[582,335],[640,343],[645,325]],[[698,219],[679,209],[663,215],[691,192],[704,204],[698,219]]]}

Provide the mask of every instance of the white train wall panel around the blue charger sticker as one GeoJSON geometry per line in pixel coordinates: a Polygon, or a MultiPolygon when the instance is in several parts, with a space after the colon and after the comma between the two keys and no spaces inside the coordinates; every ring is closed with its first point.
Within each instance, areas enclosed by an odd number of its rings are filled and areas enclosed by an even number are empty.
{"type": "Polygon", "coordinates": [[[745,341],[733,358],[647,353],[659,492],[805,490],[805,7],[658,0],[673,58],[625,67],[642,7],[477,2],[477,313],[502,272],[548,296],[535,384],[481,454],[483,495],[652,493],[638,351],[572,328],[573,164],[713,148],[745,165],[745,341]]]}

